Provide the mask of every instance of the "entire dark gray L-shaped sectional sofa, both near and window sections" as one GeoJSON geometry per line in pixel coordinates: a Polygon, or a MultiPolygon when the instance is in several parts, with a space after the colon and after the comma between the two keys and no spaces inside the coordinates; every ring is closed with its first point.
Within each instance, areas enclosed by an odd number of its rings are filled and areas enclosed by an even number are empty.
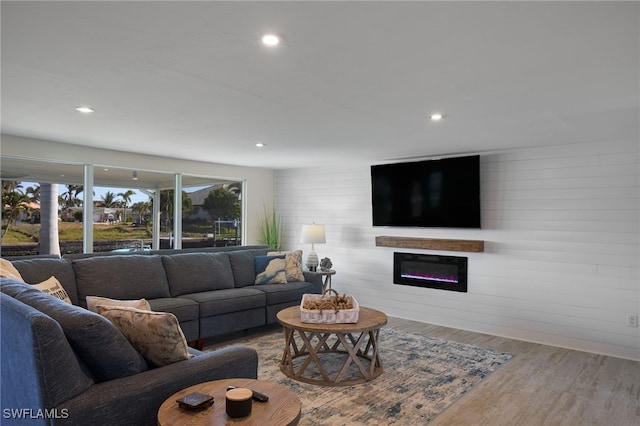
{"type": "Polygon", "coordinates": [[[0,278],[2,424],[154,425],[162,402],[208,380],[257,378],[255,350],[188,348],[193,358],[149,365],[117,328],[88,311],[85,297],[146,298],[173,313],[187,340],[275,322],[278,310],[319,293],[309,282],[254,285],[254,256],[267,247],[14,260],[27,283],[55,276],[70,305],[31,285],[0,278]],[[133,349],[133,350],[132,350],[133,349]]]}

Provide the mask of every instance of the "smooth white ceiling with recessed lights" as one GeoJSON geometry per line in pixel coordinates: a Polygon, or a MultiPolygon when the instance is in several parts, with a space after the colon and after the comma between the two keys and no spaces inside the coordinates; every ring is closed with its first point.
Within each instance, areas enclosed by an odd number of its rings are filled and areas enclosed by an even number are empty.
{"type": "Polygon", "coordinates": [[[639,6],[2,1],[2,132],[268,168],[638,139],[639,6]]]}

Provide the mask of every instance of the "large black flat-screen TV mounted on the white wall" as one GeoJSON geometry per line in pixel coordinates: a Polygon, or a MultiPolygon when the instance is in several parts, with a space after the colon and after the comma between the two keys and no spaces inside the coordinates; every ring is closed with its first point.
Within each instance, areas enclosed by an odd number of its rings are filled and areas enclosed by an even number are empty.
{"type": "Polygon", "coordinates": [[[373,226],[480,228],[480,156],[371,166],[373,226]]]}

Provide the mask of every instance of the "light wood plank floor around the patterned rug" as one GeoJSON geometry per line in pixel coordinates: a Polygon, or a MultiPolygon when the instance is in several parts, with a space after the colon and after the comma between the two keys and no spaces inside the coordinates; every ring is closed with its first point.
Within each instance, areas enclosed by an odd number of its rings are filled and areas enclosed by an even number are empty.
{"type": "Polygon", "coordinates": [[[387,327],[515,355],[429,426],[640,426],[640,362],[392,317],[387,327]]]}

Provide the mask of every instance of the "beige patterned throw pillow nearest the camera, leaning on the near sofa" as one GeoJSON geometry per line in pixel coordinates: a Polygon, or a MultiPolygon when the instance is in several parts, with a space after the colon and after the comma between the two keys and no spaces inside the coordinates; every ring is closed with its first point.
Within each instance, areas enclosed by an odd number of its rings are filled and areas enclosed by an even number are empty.
{"type": "Polygon", "coordinates": [[[175,315],[118,306],[97,306],[142,356],[155,366],[192,358],[175,315]]]}

